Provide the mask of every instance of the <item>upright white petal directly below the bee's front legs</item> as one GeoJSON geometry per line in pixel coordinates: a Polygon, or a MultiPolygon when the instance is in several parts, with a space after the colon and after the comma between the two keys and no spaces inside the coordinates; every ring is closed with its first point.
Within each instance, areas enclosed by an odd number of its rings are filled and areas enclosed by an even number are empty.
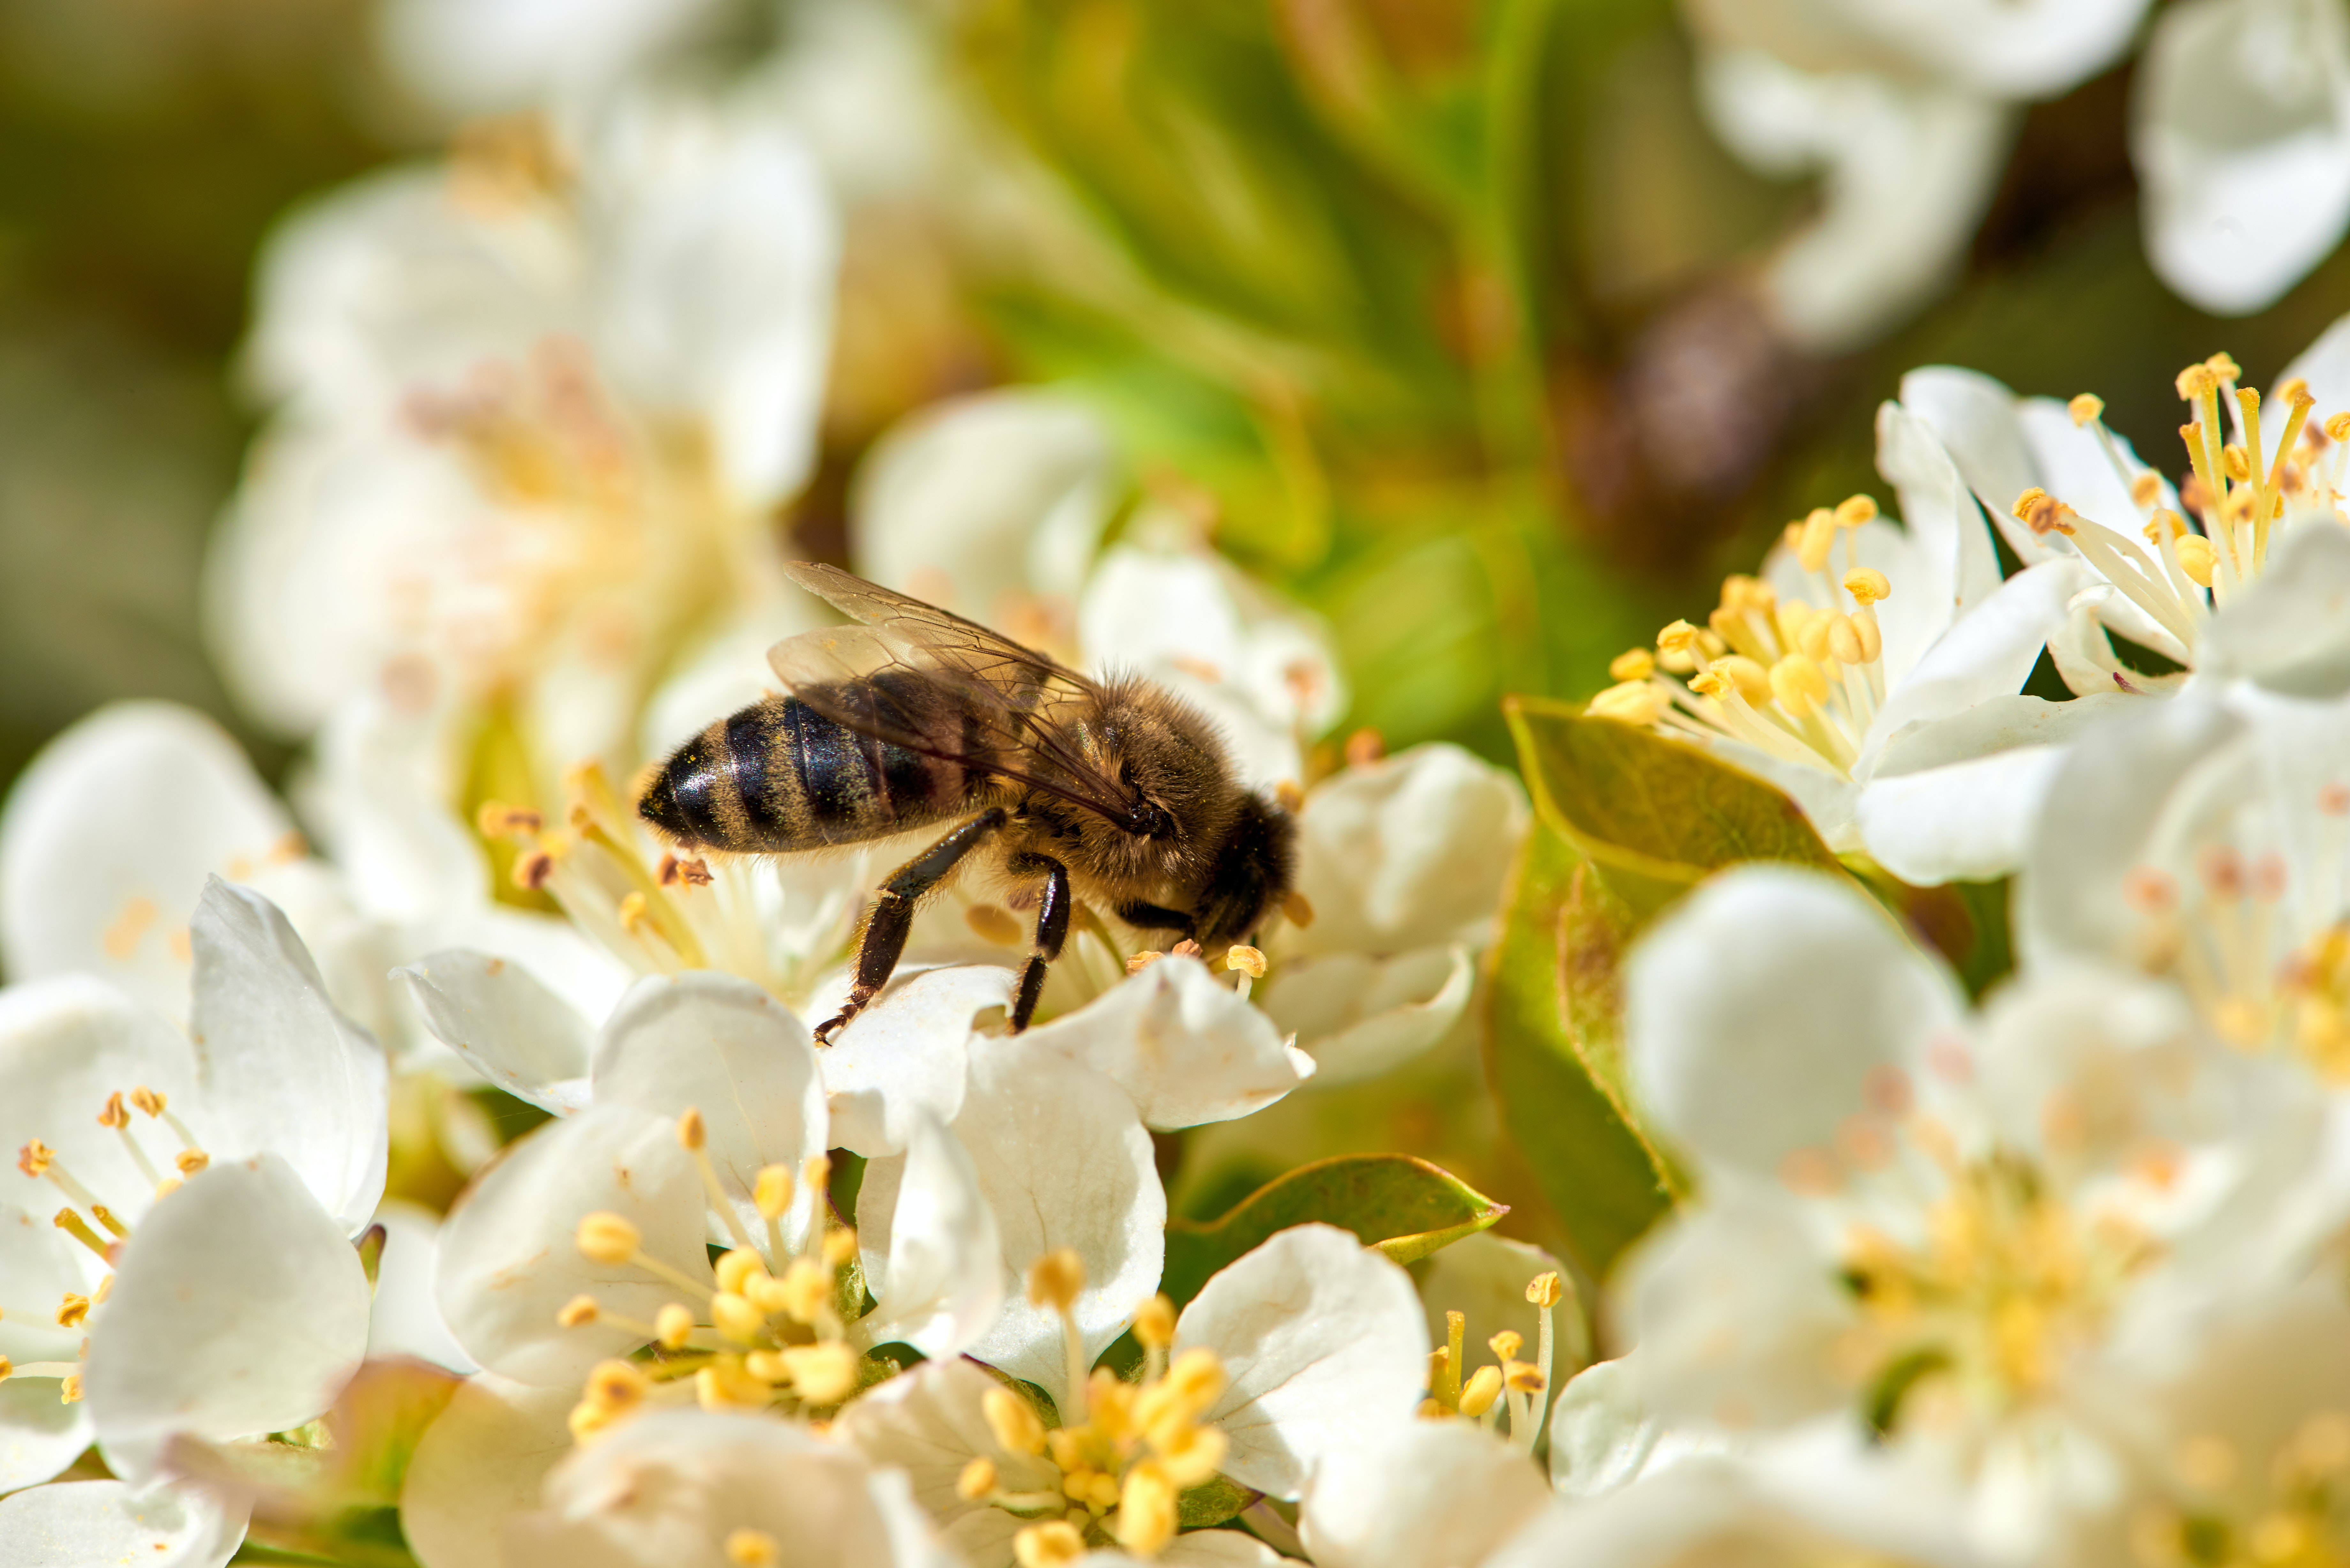
{"type": "Polygon", "coordinates": [[[1006,1305],[971,1356],[1027,1378],[1069,1408],[1060,1316],[1027,1300],[1027,1269],[1067,1246],[1086,1265],[1074,1314],[1083,1361],[1126,1333],[1159,1288],[1166,1192],[1152,1135],[1126,1091],[1025,1037],[982,1039],[954,1124],[1003,1239],[1006,1305]]]}

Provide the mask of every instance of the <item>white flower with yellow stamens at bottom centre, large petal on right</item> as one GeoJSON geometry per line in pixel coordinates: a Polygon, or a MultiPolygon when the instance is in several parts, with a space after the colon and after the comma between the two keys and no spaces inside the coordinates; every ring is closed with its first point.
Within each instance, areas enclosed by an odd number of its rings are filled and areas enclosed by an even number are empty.
{"type": "MultiPolygon", "coordinates": [[[[931,1361],[865,1394],[839,1429],[907,1472],[975,1568],[1001,1568],[1015,1537],[1055,1523],[1100,1523],[1154,1556],[1173,1537],[1175,1497],[1215,1474],[1295,1500],[1314,1465],[1408,1425],[1426,1387],[1410,1279],[1328,1225],[1285,1229],[1227,1265],[1173,1321],[1163,1300],[1135,1305],[1142,1385],[1107,1368],[1062,1380],[1058,1425],[980,1368],[931,1361]]],[[[1090,1354],[1093,1335],[1072,1338],[1072,1371],[1090,1354]]]]}

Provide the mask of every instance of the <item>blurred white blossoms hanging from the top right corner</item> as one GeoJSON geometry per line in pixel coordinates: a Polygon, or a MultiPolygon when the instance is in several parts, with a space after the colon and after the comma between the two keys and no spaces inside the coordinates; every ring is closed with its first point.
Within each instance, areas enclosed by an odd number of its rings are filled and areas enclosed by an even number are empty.
{"type": "Polygon", "coordinates": [[[1762,275],[1798,343],[1845,350],[1960,270],[2023,103],[2138,49],[2146,256],[2190,303],[2272,306],[2350,228],[2343,0],[1683,0],[1716,134],[1821,212],[1762,275]],[[2148,21],[2148,14],[2153,19],[2148,21]]]}

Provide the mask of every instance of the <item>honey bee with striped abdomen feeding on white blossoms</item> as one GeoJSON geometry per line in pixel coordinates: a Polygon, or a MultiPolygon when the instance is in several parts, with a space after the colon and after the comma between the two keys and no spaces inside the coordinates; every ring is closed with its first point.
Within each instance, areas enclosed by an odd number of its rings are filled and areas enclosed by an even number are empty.
{"type": "MultiPolygon", "coordinates": [[[[973,856],[1032,891],[1025,1030],[1076,898],[1206,950],[1288,898],[1297,830],[1248,790],[1215,724],[1147,679],[1086,679],[1043,654],[834,567],[785,567],[860,625],[768,649],[785,696],[686,741],[637,811],[679,849],[804,853],[959,820],[900,865],[858,938],[855,1018],[905,952],[914,907],[973,856]]],[[[1020,900],[1025,903],[1025,900],[1020,900]]]]}

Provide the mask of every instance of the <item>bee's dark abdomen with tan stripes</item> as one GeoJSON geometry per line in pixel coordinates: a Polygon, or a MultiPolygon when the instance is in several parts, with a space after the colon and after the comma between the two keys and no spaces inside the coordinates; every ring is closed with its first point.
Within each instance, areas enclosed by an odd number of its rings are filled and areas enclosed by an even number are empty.
{"type": "MultiPolygon", "coordinates": [[[[891,677],[879,677],[888,682],[891,677]]],[[[900,677],[902,679],[902,677],[900,677]]],[[[872,701],[851,689],[837,693],[872,701]]],[[[794,851],[879,839],[966,809],[964,719],[935,689],[888,691],[895,712],[949,724],[940,755],[858,733],[799,698],[719,719],[663,764],[637,809],[686,844],[794,851]]]]}

